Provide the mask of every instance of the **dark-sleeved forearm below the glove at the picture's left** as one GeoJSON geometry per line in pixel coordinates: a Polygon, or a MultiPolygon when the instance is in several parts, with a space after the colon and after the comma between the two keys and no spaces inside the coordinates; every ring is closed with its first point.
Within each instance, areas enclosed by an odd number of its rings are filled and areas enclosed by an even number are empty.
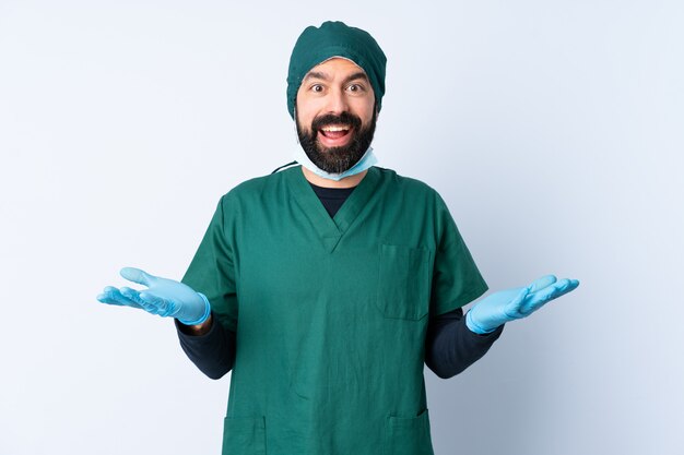
{"type": "Polygon", "coordinates": [[[220,379],[235,362],[235,333],[210,315],[199,325],[184,325],[176,321],[180,347],[190,361],[211,379],[220,379]]]}

